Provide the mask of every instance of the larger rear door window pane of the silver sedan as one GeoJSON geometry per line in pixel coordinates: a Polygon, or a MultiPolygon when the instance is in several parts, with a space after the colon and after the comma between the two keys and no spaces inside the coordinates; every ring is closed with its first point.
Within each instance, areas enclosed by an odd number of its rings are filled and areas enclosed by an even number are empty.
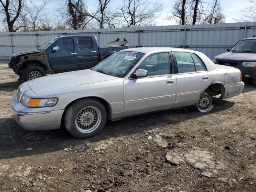
{"type": "Polygon", "coordinates": [[[174,52],[176,61],[177,61],[177,67],[178,67],[178,73],[186,73],[186,72],[194,72],[196,71],[193,59],[190,55],[190,53],[187,52],[174,52]]]}

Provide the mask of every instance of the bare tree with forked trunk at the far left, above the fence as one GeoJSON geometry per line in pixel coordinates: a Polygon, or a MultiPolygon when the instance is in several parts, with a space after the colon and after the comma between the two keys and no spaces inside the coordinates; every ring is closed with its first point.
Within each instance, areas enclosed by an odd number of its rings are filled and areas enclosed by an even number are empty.
{"type": "Polygon", "coordinates": [[[7,23],[8,32],[16,32],[20,27],[15,26],[20,17],[25,0],[0,0],[1,13],[4,15],[4,23],[7,23]]]}

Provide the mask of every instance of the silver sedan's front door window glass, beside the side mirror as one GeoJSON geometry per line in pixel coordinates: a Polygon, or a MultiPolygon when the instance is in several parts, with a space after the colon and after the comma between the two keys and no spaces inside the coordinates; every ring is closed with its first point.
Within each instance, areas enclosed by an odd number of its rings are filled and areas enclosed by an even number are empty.
{"type": "Polygon", "coordinates": [[[148,56],[137,69],[147,70],[148,76],[171,74],[169,53],[152,54],[148,56]]]}

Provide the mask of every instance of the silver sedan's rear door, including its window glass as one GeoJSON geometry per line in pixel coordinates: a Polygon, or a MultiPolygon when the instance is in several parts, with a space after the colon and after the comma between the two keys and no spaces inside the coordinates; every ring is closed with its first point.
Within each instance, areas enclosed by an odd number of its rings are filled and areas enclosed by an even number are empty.
{"type": "Polygon", "coordinates": [[[212,82],[210,72],[196,54],[173,53],[177,68],[176,107],[196,104],[202,91],[212,82]]]}

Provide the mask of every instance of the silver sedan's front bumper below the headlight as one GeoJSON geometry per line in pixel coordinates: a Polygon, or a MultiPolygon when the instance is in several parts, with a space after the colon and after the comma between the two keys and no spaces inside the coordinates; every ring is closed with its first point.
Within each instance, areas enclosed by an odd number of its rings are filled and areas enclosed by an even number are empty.
{"type": "Polygon", "coordinates": [[[22,128],[26,130],[59,129],[64,110],[46,108],[28,108],[17,102],[17,95],[12,97],[10,103],[12,116],[22,128]]]}

